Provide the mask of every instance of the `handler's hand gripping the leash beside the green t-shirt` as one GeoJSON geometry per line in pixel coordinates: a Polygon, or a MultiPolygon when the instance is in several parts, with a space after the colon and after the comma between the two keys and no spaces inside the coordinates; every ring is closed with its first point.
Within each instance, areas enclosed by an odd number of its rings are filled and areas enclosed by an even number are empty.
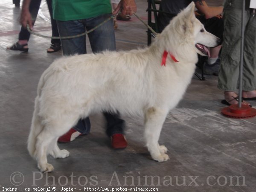
{"type": "Polygon", "coordinates": [[[137,12],[135,0],[121,0],[113,11],[113,15],[116,15],[120,10],[124,15],[133,15],[134,12],[137,12]]]}

